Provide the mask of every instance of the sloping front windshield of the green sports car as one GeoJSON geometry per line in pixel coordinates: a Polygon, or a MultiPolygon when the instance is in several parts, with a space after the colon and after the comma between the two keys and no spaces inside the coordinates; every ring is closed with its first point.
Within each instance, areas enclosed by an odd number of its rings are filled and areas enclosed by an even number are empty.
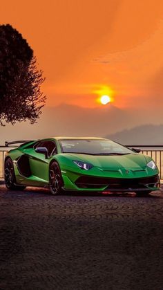
{"type": "Polygon", "coordinates": [[[80,153],[95,155],[123,155],[134,154],[131,149],[119,145],[111,140],[69,139],[60,140],[63,153],[80,153]]]}

